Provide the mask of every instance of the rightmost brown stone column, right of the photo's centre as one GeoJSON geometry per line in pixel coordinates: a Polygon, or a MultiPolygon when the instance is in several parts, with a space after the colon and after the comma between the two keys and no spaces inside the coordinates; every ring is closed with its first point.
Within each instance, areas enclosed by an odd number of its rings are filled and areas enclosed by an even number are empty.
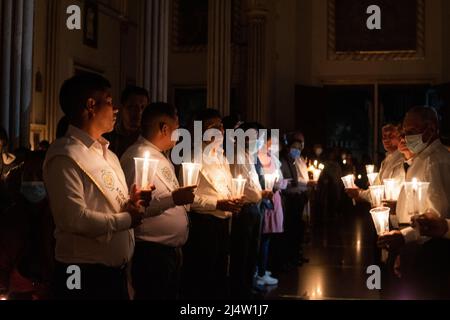
{"type": "Polygon", "coordinates": [[[266,123],[267,68],[266,24],[268,11],[262,1],[249,0],[247,120],[266,123]]]}

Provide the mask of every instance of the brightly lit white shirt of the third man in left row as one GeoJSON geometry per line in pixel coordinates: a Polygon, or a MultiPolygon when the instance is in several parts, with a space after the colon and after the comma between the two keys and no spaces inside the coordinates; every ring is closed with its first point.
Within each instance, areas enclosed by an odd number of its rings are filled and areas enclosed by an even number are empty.
{"type": "Polygon", "coordinates": [[[231,183],[230,166],[223,154],[206,156],[191,206],[192,211],[220,219],[230,218],[231,212],[217,210],[217,201],[231,198],[231,183]]]}

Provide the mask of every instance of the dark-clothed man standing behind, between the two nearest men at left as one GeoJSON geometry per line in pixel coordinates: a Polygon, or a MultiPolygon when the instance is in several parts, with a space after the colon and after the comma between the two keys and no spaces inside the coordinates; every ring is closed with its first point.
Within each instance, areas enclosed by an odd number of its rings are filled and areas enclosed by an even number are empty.
{"type": "Polygon", "coordinates": [[[139,137],[141,117],[145,107],[150,103],[150,95],[144,88],[128,86],[122,92],[121,108],[114,131],[105,134],[110,141],[110,150],[120,159],[139,137]]]}

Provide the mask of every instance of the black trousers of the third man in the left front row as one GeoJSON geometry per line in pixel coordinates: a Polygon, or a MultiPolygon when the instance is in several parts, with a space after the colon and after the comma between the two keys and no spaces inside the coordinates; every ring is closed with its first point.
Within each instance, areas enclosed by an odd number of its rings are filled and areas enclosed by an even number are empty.
{"type": "Polygon", "coordinates": [[[229,219],[190,213],[183,248],[182,298],[220,300],[228,296],[229,219]]]}

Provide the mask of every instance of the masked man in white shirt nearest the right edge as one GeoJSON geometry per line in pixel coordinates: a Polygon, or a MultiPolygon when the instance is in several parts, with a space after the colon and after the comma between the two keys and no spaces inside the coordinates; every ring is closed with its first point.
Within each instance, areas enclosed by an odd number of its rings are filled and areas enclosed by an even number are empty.
{"type": "MultiPolygon", "coordinates": [[[[406,181],[411,182],[417,179],[421,182],[429,182],[430,186],[426,196],[429,212],[441,214],[441,218],[447,219],[450,223],[450,153],[439,140],[439,121],[435,110],[428,107],[414,107],[406,115],[403,122],[402,143],[411,152],[412,157],[405,162],[406,181]]],[[[402,227],[400,231],[392,231],[379,239],[379,246],[391,251],[401,252],[401,265],[413,268],[416,272],[413,278],[420,278],[421,283],[427,284],[427,290],[421,290],[420,294],[428,296],[439,296],[442,281],[449,276],[450,265],[438,263],[442,257],[449,257],[450,233],[441,236],[441,239],[432,239],[421,235],[421,229],[413,223],[415,228],[408,226],[411,224],[411,217],[408,214],[408,202],[405,190],[400,193],[397,203],[397,217],[402,227]],[[418,245],[415,250],[416,260],[414,263],[404,263],[411,261],[405,256],[402,257],[402,250],[418,245]],[[415,266],[415,267],[413,267],[415,266]],[[444,270],[447,267],[446,270],[444,270]]],[[[424,230],[426,231],[426,230],[424,230]]],[[[426,235],[426,233],[425,233],[426,235]]],[[[447,259],[448,260],[448,259],[447,259]]],[[[408,277],[406,271],[406,277],[408,277]]],[[[411,270],[410,270],[411,272],[411,270]]],[[[448,287],[448,285],[444,285],[448,287]]],[[[425,287],[422,287],[425,288],[425,287]]],[[[447,292],[448,294],[448,292],[447,292]]],[[[447,296],[448,297],[448,296],[447,296]]]]}

